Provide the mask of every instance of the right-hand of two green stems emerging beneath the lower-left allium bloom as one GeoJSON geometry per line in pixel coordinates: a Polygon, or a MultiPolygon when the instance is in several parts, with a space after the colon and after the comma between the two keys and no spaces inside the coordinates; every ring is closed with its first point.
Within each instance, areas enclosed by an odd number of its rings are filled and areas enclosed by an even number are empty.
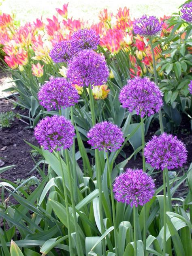
{"type": "Polygon", "coordinates": [[[77,255],[83,256],[83,249],[81,246],[80,236],[79,236],[79,227],[77,223],[77,215],[76,215],[76,209],[75,209],[75,200],[73,195],[73,184],[72,184],[72,178],[70,174],[70,164],[69,164],[69,155],[68,155],[68,149],[65,149],[65,157],[66,157],[66,165],[67,165],[67,171],[68,171],[68,181],[69,181],[69,188],[70,188],[70,197],[71,197],[71,204],[73,209],[73,219],[74,219],[74,225],[75,225],[75,232],[76,232],[76,239],[77,239],[77,255]]]}

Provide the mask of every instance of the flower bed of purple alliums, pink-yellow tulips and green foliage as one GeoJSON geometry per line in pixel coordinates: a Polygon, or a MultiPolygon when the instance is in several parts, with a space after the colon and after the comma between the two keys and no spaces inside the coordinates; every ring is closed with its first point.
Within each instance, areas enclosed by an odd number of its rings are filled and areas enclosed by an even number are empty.
{"type": "Polygon", "coordinates": [[[67,6],[56,9],[62,20],[47,24],[17,28],[0,16],[17,104],[28,110],[40,146],[27,143],[42,157],[31,194],[23,189],[30,179],[0,183],[18,202],[2,197],[2,254],[188,256],[192,170],[188,163],[171,176],[187,163],[187,148],[168,132],[182,115],[191,119],[191,3],[181,17],[160,20],[105,9],[89,28],[69,19],[67,6]],[[149,140],[150,125],[158,127],[149,140]],[[139,153],[142,168],[131,169],[139,153]],[[183,182],[188,189],[175,198],[183,182]]]}

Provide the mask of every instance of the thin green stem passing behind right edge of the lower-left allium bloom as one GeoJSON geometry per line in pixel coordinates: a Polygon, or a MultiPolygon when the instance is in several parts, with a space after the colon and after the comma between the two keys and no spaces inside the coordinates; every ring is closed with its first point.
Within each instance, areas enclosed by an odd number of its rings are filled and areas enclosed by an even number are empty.
{"type": "MultiPolygon", "coordinates": [[[[71,116],[71,123],[74,126],[73,106],[70,107],[70,116],[71,116]]],[[[77,171],[76,171],[76,159],[75,159],[75,138],[73,138],[72,154],[73,154],[74,198],[77,204],[78,203],[78,193],[77,193],[78,185],[77,185],[77,171]]]]}

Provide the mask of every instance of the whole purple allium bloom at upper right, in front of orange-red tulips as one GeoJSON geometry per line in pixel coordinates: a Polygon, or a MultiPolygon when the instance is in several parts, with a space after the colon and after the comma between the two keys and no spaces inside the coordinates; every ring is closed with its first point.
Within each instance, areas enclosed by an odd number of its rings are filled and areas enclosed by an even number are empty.
{"type": "Polygon", "coordinates": [[[133,31],[141,36],[154,36],[162,30],[162,23],[159,23],[155,16],[143,15],[133,22],[133,31]]]}

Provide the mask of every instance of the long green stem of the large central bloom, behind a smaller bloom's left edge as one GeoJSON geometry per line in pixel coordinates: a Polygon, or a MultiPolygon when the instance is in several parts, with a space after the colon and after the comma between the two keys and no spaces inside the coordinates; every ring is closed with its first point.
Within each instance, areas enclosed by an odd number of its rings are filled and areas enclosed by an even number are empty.
{"type": "MultiPolygon", "coordinates": [[[[91,108],[91,115],[92,115],[92,125],[96,124],[95,118],[95,110],[94,110],[94,99],[91,85],[89,85],[89,96],[90,96],[90,108],[91,108]]],[[[101,172],[100,172],[100,164],[99,164],[99,151],[95,149],[95,166],[96,166],[96,179],[98,183],[99,189],[99,217],[100,217],[100,226],[101,226],[101,234],[105,232],[104,224],[103,224],[103,213],[102,213],[102,182],[101,182],[101,172]]],[[[102,250],[104,256],[106,255],[105,250],[105,240],[102,239],[102,250]]]]}

